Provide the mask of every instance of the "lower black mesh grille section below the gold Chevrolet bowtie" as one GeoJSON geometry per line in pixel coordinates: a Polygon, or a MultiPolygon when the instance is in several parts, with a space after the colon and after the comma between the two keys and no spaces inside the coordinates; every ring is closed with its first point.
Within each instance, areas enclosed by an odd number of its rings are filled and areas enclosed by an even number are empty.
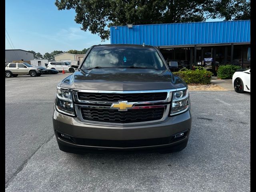
{"type": "Polygon", "coordinates": [[[162,108],[132,109],[118,111],[116,109],[81,108],[84,120],[108,123],[134,123],[160,120],[164,114],[162,108]]]}

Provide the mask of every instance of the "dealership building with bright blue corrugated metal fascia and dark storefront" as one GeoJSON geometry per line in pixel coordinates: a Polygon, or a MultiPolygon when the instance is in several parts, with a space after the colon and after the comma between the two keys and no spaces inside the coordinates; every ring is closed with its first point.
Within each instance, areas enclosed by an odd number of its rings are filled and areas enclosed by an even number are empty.
{"type": "Polygon", "coordinates": [[[110,41],[156,46],[167,62],[187,68],[250,67],[250,20],[112,26],[110,41]]]}

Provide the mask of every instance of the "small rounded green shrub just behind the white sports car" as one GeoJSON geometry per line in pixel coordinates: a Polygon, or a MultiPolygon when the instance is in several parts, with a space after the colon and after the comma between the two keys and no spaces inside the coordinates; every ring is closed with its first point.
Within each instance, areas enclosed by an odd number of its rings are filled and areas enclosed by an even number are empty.
{"type": "Polygon", "coordinates": [[[221,65],[218,68],[217,75],[220,79],[232,79],[232,76],[236,70],[242,69],[236,65],[221,65]]]}

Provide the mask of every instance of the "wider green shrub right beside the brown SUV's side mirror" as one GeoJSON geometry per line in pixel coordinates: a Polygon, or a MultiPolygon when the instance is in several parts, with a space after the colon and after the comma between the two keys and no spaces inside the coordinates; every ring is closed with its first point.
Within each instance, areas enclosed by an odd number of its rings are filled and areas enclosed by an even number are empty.
{"type": "Polygon", "coordinates": [[[205,69],[186,70],[173,72],[173,74],[179,76],[184,80],[186,84],[198,83],[198,84],[210,84],[212,72],[205,69]]]}

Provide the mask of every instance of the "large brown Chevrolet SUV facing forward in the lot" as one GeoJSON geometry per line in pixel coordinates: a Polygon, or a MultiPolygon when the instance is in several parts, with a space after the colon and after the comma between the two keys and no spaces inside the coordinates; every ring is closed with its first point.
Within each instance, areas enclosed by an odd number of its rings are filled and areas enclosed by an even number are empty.
{"type": "Polygon", "coordinates": [[[187,85],[154,46],[97,45],[62,80],[53,127],[60,150],[177,152],[191,130],[187,85]]]}

